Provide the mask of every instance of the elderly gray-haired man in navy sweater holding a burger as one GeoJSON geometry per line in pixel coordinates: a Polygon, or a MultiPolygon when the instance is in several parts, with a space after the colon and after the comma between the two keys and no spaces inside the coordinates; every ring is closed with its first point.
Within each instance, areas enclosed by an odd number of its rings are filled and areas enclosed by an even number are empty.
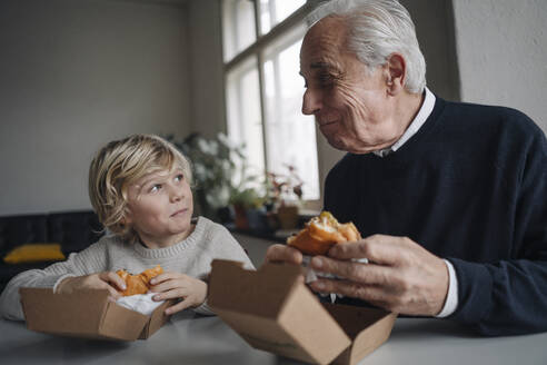
{"type": "MultiPolygon", "coordinates": [[[[330,1],[310,19],[302,112],[348,151],[327,177],[325,209],[366,237],[315,257],[312,268],[341,279],[311,288],[484,335],[547,331],[541,130],[519,111],[431,93],[396,0],[330,1]]],[[[301,259],[282,245],[267,253],[301,259]]]]}

